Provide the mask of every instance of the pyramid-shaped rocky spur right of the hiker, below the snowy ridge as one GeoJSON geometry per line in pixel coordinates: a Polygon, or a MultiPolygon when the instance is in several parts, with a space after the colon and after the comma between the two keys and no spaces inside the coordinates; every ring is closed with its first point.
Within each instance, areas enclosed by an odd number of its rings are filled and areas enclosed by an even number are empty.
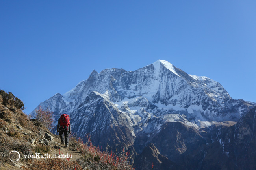
{"type": "Polygon", "coordinates": [[[127,123],[131,122],[130,117],[118,110],[106,97],[92,92],[78,107],[72,117],[74,132],[83,137],[90,132],[93,143],[100,146],[133,144],[133,127],[127,123]]]}

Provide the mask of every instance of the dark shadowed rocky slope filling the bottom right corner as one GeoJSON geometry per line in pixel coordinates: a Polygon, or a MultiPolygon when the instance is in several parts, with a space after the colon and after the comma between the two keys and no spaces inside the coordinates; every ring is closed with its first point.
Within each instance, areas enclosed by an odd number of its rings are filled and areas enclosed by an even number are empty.
{"type": "Polygon", "coordinates": [[[204,150],[202,169],[256,169],[256,108],[252,108],[236,125],[210,130],[212,143],[204,150]]]}

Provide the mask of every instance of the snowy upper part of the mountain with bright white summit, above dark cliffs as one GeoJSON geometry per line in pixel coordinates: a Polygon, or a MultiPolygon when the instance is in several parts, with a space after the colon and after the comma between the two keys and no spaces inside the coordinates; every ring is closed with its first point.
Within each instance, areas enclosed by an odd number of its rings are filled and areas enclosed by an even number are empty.
{"type": "Polygon", "coordinates": [[[142,108],[153,117],[185,115],[189,122],[196,123],[193,126],[200,126],[200,121],[237,121],[254,105],[233,100],[219,82],[188,75],[164,60],[136,71],[112,68],[97,73],[94,70],[74,89],[64,95],[57,93],[40,105],[57,115],[64,112],[72,115],[93,91],[126,112],[135,123],[145,118],[139,114],[142,108]]]}

